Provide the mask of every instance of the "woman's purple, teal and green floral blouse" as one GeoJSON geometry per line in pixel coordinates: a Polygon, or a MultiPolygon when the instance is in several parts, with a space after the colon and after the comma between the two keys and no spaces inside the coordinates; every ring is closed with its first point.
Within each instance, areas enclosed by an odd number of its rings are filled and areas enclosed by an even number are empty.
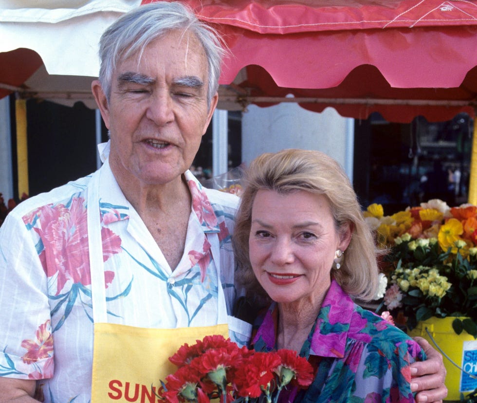
{"type": "MultiPolygon", "coordinates": [[[[256,349],[275,349],[277,320],[273,303],[257,318],[256,349]]],[[[316,374],[307,390],[288,396],[295,403],[414,402],[410,364],[425,358],[414,340],[354,304],[334,280],[300,355],[316,374]]]]}

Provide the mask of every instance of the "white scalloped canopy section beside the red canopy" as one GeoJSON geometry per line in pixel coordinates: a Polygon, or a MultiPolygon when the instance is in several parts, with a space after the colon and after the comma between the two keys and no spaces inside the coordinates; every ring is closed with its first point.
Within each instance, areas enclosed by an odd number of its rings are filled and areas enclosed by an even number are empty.
{"type": "Polygon", "coordinates": [[[0,52],[37,52],[49,74],[97,76],[98,41],[140,0],[3,0],[0,52]]]}

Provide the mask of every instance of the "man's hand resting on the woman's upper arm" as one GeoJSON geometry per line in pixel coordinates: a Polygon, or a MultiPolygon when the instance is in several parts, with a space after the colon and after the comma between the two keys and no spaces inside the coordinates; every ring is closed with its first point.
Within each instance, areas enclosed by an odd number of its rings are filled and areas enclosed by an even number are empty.
{"type": "Polygon", "coordinates": [[[447,396],[447,388],[444,385],[446,370],[442,355],[422,337],[413,339],[419,343],[427,356],[425,361],[411,364],[411,390],[418,392],[416,402],[442,402],[447,396]]]}

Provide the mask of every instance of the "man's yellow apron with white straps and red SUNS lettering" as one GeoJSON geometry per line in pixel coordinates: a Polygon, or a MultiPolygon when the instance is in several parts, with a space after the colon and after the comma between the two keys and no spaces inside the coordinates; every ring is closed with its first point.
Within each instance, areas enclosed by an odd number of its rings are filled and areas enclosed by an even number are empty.
{"type": "MultiPolygon", "coordinates": [[[[160,381],[177,368],[168,357],[184,343],[194,344],[205,335],[228,337],[228,325],[244,339],[250,337],[251,326],[227,315],[225,296],[218,287],[218,324],[215,326],[179,329],[145,329],[107,323],[106,287],[101,240],[99,171],[88,187],[88,242],[90,252],[94,344],[92,365],[92,403],[161,402],[155,395],[160,381]],[[96,229],[96,231],[94,231],[96,229]]],[[[212,256],[219,259],[219,237],[207,235],[212,256]]],[[[220,264],[220,263],[219,263],[220,264]]],[[[216,267],[219,266],[216,264],[216,267]]],[[[219,268],[218,278],[220,281],[219,268]]]]}

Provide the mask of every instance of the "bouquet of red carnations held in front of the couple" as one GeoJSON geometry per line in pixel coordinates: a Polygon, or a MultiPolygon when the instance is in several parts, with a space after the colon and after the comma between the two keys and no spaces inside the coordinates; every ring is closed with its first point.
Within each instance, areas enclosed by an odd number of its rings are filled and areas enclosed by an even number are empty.
{"type": "Polygon", "coordinates": [[[184,344],[169,360],[178,369],[161,382],[159,397],[168,403],[276,403],[287,385],[304,388],[313,381],[313,368],[295,351],[259,352],[223,336],[206,336],[193,346],[184,344]]]}

